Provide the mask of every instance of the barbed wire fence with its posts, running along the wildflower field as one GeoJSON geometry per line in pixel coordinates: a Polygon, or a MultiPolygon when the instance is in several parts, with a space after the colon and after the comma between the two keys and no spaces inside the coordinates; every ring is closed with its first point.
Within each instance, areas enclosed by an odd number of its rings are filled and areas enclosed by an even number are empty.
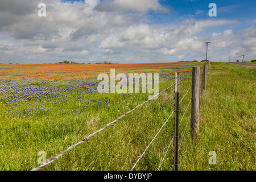
{"type": "MultiPolygon", "coordinates": [[[[76,144],[73,144],[72,146],[68,147],[66,150],[64,150],[64,151],[61,152],[60,154],[57,154],[56,156],[54,156],[54,157],[52,157],[52,158],[46,159],[46,161],[45,161],[42,165],[40,165],[40,166],[38,166],[38,167],[32,169],[31,171],[38,171],[40,168],[42,168],[42,167],[44,167],[44,166],[47,166],[48,164],[51,164],[52,162],[54,162],[55,160],[57,160],[60,156],[62,156],[62,155],[65,154],[66,152],[72,150],[72,148],[75,148],[75,147],[78,146],[79,144],[85,142],[86,140],[89,140],[91,137],[93,137],[93,136],[96,135],[97,133],[100,133],[102,130],[106,129],[106,127],[113,126],[114,123],[117,122],[119,119],[125,117],[126,115],[128,115],[128,114],[131,113],[132,111],[138,109],[138,107],[140,107],[140,106],[146,104],[148,101],[152,100],[154,97],[158,97],[159,94],[163,93],[163,92],[166,91],[167,89],[170,89],[172,86],[175,86],[175,87],[178,86],[178,87],[179,87],[179,86],[180,86],[180,85],[179,85],[179,82],[180,82],[180,81],[184,80],[185,78],[188,78],[188,77],[192,76],[192,85],[191,85],[191,87],[187,90],[187,92],[184,94],[183,98],[181,98],[181,100],[179,101],[179,97],[178,97],[178,98],[175,97],[175,102],[179,105],[179,104],[181,103],[181,101],[183,101],[184,97],[187,95],[187,93],[189,92],[189,90],[192,88],[192,98],[189,99],[189,103],[188,103],[188,105],[187,105],[187,108],[185,109],[185,112],[184,112],[183,117],[181,118],[180,122],[178,121],[179,118],[177,118],[177,122],[178,122],[178,123],[177,123],[177,127],[179,127],[180,124],[181,124],[181,122],[183,121],[184,115],[187,113],[187,110],[188,110],[189,105],[191,104],[191,102],[193,102],[193,90],[195,91],[195,88],[194,88],[195,85],[193,85],[193,78],[195,78],[194,68],[198,68],[198,69],[199,69],[199,71],[197,71],[198,73],[197,73],[197,76],[196,76],[196,77],[197,77],[197,80],[198,80],[198,78],[199,78],[199,81],[197,81],[197,82],[199,83],[199,87],[198,87],[198,83],[197,83],[197,87],[199,88],[199,89],[197,89],[197,92],[199,93],[199,97],[196,98],[196,99],[197,99],[197,100],[200,100],[200,89],[201,89],[202,92],[203,92],[203,89],[205,90],[205,88],[206,88],[205,85],[206,85],[206,77],[207,77],[208,67],[209,67],[209,62],[207,62],[207,64],[204,65],[204,70],[203,70],[203,72],[202,72],[202,80],[201,80],[200,67],[193,67],[193,73],[192,73],[192,75],[185,76],[185,77],[181,78],[181,80],[179,80],[179,78],[177,78],[177,73],[176,73],[176,76],[175,76],[175,84],[172,84],[171,86],[168,86],[166,89],[163,89],[161,92],[159,92],[158,94],[156,94],[156,95],[154,95],[153,97],[149,98],[147,101],[144,101],[142,104],[140,104],[140,105],[134,107],[134,109],[131,109],[131,110],[128,111],[127,113],[123,112],[123,113],[124,113],[123,115],[121,115],[121,116],[118,117],[117,119],[114,119],[114,121],[109,122],[108,125],[105,125],[104,127],[101,127],[101,129],[99,129],[99,130],[97,130],[96,132],[94,132],[94,133],[88,135],[88,137],[85,137],[84,139],[80,140],[80,141],[77,142],[76,144]],[[178,83],[177,83],[177,79],[178,79],[178,83]],[[202,84],[200,84],[200,81],[202,81],[202,84]],[[200,86],[201,86],[201,87],[200,87],[200,86]]],[[[179,75],[179,73],[178,73],[178,75],[179,75]]],[[[178,76],[178,77],[179,77],[179,76],[178,76]]],[[[194,81],[194,82],[195,82],[195,81],[194,81]]],[[[176,89],[176,88],[175,88],[175,89],[176,89]]],[[[193,107],[193,103],[191,104],[191,107],[193,107]]],[[[181,138],[180,144],[179,144],[179,145],[177,144],[177,146],[179,146],[179,148],[176,148],[177,152],[179,152],[180,146],[181,146],[181,144],[182,144],[182,142],[183,142],[183,138],[184,138],[185,131],[187,131],[187,126],[188,126],[189,119],[191,118],[191,120],[192,120],[192,117],[193,117],[192,110],[193,110],[193,109],[191,108],[191,117],[190,117],[190,115],[189,115],[188,121],[187,121],[187,125],[185,126],[184,133],[183,133],[183,136],[182,136],[182,138],[181,138]]],[[[196,108],[196,110],[199,111],[199,105],[198,105],[198,108],[196,108]]],[[[172,111],[172,113],[169,115],[169,117],[168,117],[168,118],[166,119],[166,121],[163,123],[163,125],[162,125],[162,127],[160,128],[160,130],[158,131],[158,133],[156,133],[155,137],[152,138],[151,142],[148,144],[148,146],[146,147],[146,149],[143,151],[142,155],[138,156],[139,159],[138,159],[137,162],[134,164],[134,166],[131,168],[131,171],[137,166],[139,160],[142,159],[143,155],[146,153],[146,151],[147,151],[148,148],[151,146],[152,142],[153,142],[153,141],[155,140],[155,138],[158,136],[158,134],[159,134],[160,131],[163,129],[163,127],[166,126],[166,123],[169,121],[171,115],[174,114],[175,112],[178,112],[178,111],[179,111],[179,110],[175,110],[175,109],[172,111]]],[[[176,114],[177,114],[177,113],[176,113],[176,114]]],[[[175,114],[175,116],[176,116],[176,114],[175,114]]],[[[179,114],[178,114],[178,115],[179,115],[179,114]]],[[[199,122],[199,121],[197,121],[197,122],[199,122]]],[[[192,123],[192,121],[191,121],[191,123],[192,123]]],[[[192,127],[192,124],[191,124],[191,127],[192,127]]],[[[191,130],[193,130],[193,128],[192,128],[191,130]]],[[[193,131],[191,131],[191,133],[192,133],[192,135],[195,135],[195,134],[193,134],[193,131]]],[[[188,134],[187,134],[187,136],[188,136],[188,134]]],[[[178,137],[178,136],[176,136],[176,137],[178,137]]],[[[158,171],[159,171],[160,167],[162,166],[162,164],[163,164],[163,162],[164,162],[164,158],[166,157],[168,150],[170,150],[171,144],[172,144],[172,142],[174,141],[174,139],[175,139],[175,135],[174,135],[174,137],[172,137],[171,142],[170,142],[169,146],[167,147],[166,152],[164,152],[163,159],[161,160],[160,165],[159,165],[159,167],[157,168],[158,171]]],[[[187,139],[185,139],[185,142],[184,142],[184,147],[183,147],[183,152],[182,152],[182,155],[181,155],[181,159],[182,159],[183,154],[184,154],[186,141],[187,141],[187,139]]],[[[175,147],[174,147],[174,148],[175,148],[175,147]]],[[[180,160],[181,160],[181,159],[180,159],[180,160]]],[[[179,169],[180,166],[179,166],[178,164],[175,164],[175,163],[172,164],[172,168],[173,168],[175,165],[177,166],[177,169],[179,169]]],[[[171,170],[172,170],[172,168],[171,168],[171,170]]],[[[177,170],[177,169],[176,169],[176,170],[177,170]]]]}

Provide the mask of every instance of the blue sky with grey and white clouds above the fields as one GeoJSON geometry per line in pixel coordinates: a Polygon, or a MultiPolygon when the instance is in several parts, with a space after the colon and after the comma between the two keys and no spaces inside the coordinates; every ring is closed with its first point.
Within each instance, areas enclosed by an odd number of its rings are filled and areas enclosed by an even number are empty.
{"type": "Polygon", "coordinates": [[[255,11],[255,0],[1,0],[0,63],[201,61],[204,42],[210,61],[250,61],[255,11]]]}

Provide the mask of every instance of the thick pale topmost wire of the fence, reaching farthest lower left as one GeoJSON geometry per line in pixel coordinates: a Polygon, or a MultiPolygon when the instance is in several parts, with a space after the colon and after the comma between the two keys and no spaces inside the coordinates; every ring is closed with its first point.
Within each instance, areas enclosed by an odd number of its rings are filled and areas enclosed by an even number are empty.
{"type": "MultiPolygon", "coordinates": [[[[180,81],[184,80],[185,78],[189,77],[191,75],[185,76],[183,78],[181,78],[180,81]]],[[[72,146],[68,147],[66,150],[64,150],[63,152],[61,152],[60,154],[57,154],[56,156],[54,156],[53,158],[48,158],[46,160],[46,162],[44,162],[44,164],[32,169],[31,171],[38,171],[40,168],[47,166],[48,164],[51,164],[53,161],[57,160],[60,156],[62,156],[63,154],[65,154],[66,152],[70,151],[72,148],[75,148],[77,145],[83,143],[86,140],[89,140],[89,138],[93,137],[94,135],[96,135],[97,133],[99,133],[100,131],[106,129],[106,127],[108,126],[113,126],[113,123],[117,122],[119,119],[125,117],[126,115],[128,115],[129,113],[131,113],[131,111],[134,111],[135,109],[138,109],[138,107],[142,106],[143,104],[145,104],[146,102],[152,100],[154,97],[159,96],[159,94],[163,93],[164,91],[166,91],[167,89],[170,89],[172,86],[174,86],[175,84],[172,84],[171,86],[168,86],[166,89],[162,90],[161,92],[159,92],[158,94],[154,95],[153,97],[149,98],[147,101],[144,101],[142,104],[134,107],[134,109],[128,111],[127,113],[121,115],[121,117],[115,119],[114,121],[108,123],[108,125],[105,125],[104,127],[102,127],[101,129],[97,130],[96,132],[94,132],[93,134],[88,135],[88,137],[85,137],[84,139],[80,140],[79,142],[77,142],[76,144],[73,144],[72,146]]]]}

